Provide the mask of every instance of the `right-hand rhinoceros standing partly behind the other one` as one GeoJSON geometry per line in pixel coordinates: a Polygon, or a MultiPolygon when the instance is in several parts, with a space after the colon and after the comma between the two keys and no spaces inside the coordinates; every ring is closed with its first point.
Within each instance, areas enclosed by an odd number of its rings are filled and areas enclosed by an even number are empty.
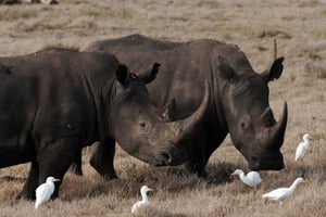
{"type": "Polygon", "coordinates": [[[150,98],[156,106],[176,99],[177,118],[195,111],[204,92],[204,80],[210,80],[212,100],[205,124],[192,133],[187,148],[186,165],[191,171],[205,175],[209,157],[227,133],[251,169],[284,168],[280,146],[287,103],[278,123],[268,103],[268,81],[280,77],[284,58],[275,58],[271,67],[258,74],[237,46],[212,39],[171,42],[141,35],[93,41],[80,50],[110,51],[135,72],[153,61],[162,63],[162,73],[148,87],[150,98]]]}

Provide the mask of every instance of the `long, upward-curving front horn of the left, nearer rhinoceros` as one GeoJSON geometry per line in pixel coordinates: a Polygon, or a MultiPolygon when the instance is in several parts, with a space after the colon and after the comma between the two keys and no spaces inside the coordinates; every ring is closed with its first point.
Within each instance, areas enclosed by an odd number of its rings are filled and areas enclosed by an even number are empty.
{"type": "Polygon", "coordinates": [[[196,128],[201,125],[204,114],[210,104],[210,84],[205,80],[204,98],[197,111],[189,117],[183,120],[171,123],[174,125],[175,138],[172,141],[174,144],[181,144],[183,141],[189,139],[196,128]]]}

